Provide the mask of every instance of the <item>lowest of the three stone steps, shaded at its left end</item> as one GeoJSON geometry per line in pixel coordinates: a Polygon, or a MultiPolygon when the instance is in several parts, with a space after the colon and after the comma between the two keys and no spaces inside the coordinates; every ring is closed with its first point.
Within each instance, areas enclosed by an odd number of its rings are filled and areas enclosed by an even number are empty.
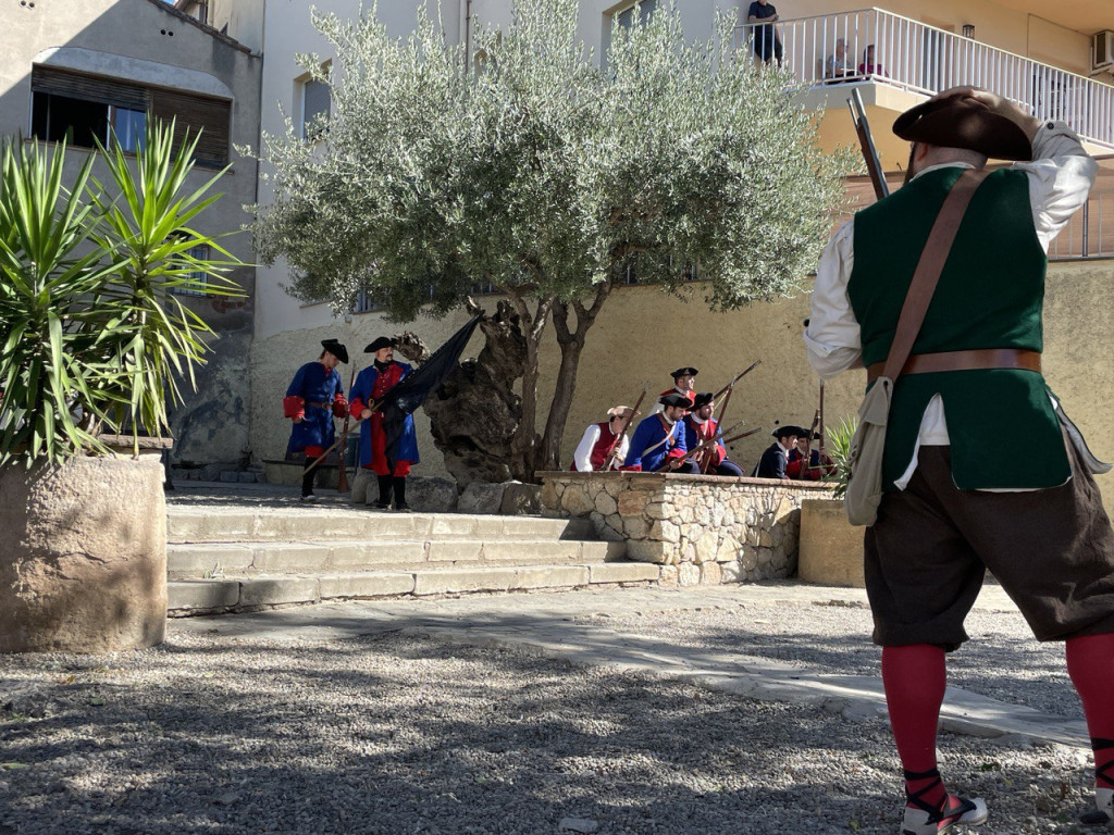
{"type": "Polygon", "coordinates": [[[172,580],[167,592],[170,615],[186,617],[332,600],[571,589],[616,583],[645,586],[659,580],[659,566],[599,562],[172,580]]]}

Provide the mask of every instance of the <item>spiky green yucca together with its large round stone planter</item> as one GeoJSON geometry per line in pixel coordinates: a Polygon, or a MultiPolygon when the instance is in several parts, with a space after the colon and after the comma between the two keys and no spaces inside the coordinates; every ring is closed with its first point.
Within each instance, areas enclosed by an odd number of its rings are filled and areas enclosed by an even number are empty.
{"type": "Polygon", "coordinates": [[[71,178],[65,146],[0,145],[0,651],[163,639],[168,441],[141,435],[214,335],[174,291],[235,294],[238,264],[194,228],[223,174],[196,186],[196,143],[152,121],[71,178]]]}

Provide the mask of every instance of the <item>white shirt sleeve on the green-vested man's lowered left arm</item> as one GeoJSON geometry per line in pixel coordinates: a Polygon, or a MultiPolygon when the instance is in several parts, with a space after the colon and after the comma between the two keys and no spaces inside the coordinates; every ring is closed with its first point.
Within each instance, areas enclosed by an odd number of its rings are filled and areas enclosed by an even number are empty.
{"type": "Polygon", "coordinates": [[[821,380],[829,380],[848,369],[862,367],[859,323],[847,295],[853,266],[854,222],[848,220],[820,256],[809,326],[804,328],[809,363],[821,380]]]}

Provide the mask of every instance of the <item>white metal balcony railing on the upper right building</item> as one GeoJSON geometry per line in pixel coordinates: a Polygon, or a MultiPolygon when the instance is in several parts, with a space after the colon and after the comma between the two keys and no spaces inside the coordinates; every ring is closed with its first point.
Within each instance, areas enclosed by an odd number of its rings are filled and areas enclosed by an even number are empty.
{"type": "MultiPolygon", "coordinates": [[[[773,24],[783,62],[807,85],[872,80],[932,95],[975,85],[1028,105],[1038,119],[1063,119],[1084,139],[1114,148],[1114,86],[988,47],[881,9],[782,20],[773,24]],[[846,45],[849,73],[825,73],[836,42],[846,45]],[[873,66],[866,50],[873,46],[873,66]],[[860,71],[861,68],[861,71],[860,71]]],[[[737,47],[752,49],[760,24],[737,27],[737,47]]]]}

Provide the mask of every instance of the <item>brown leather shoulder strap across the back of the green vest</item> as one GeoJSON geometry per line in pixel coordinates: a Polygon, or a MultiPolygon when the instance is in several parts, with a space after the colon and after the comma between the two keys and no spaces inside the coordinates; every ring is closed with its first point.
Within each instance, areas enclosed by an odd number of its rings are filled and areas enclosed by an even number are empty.
{"type": "Polygon", "coordinates": [[[956,184],[951,187],[948,196],[944,198],[940,214],[936,216],[932,230],[928,233],[928,240],[925,249],[917,262],[917,269],[912,274],[912,282],[909,284],[909,293],[906,295],[905,304],[901,305],[901,315],[898,317],[898,327],[893,334],[893,342],[890,345],[890,353],[886,357],[886,366],[882,376],[897,380],[901,373],[901,367],[909,358],[912,351],[912,343],[920,333],[920,326],[925,322],[925,314],[928,312],[928,304],[932,301],[936,285],[944,272],[944,264],[951,252],[951,244],[959,232],[959,224],[964,219],[964,213],[975,196],[976,189],[989,171],[969,169],[964,171],[956,184]]]}

